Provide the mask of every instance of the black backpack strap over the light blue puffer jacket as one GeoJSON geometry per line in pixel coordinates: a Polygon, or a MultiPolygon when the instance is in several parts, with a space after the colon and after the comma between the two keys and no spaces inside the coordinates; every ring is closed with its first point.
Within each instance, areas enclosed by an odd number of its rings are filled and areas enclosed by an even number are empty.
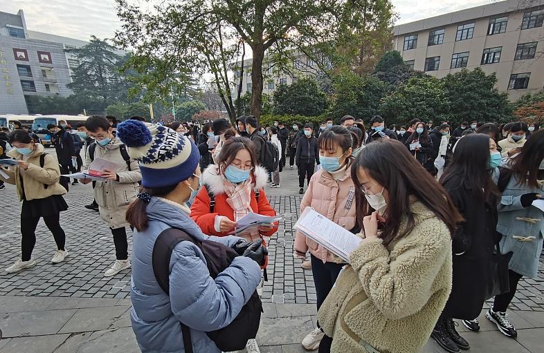
{"type": "MultiPolygon", "coordinates": [[[[185,231],[176,228],[163,230],[155,240],[153,245],[152,265],[153,274],[161,289],[170,296],[170,257],[177,243],[184,240],[192,242],[194,245],[201,247],[197,240],[194,240],[185,231]]],[[[191,331],[187,325],[180,322],[181,334],[183,336],[183,349],[187,353],[193,353],[191,331]]]]}

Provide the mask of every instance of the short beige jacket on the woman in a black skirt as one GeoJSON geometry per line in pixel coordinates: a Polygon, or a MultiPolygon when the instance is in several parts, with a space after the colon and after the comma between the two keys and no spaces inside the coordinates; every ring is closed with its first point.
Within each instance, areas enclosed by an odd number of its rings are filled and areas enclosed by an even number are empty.
{"type": "MultiPolygon", "coordinates": [[[[22,171],[24,195],[26,200],[37,200],[42,198],[48,198],[52,195],[64,195],[66,189],[59,184],[60,169],[57,158],[53,155],[46,154],[44,158],[44,168],[39,166],[39,156],[44,154],[44,146],[42,144],[35,144],[35,150],[28,155],[28,169],[22,171]],[[48,185],[46,188],[45,185],[48,185]]],[[[15,158],[16,160],[22,160],[23,155],[17,152],[17,149],[12,149],[6,153],[8,157],[15,158]]],[[[3,178],[0,175],[0,179],[10,184],[15,184],[17,187],[17,195],[19,200],[23,200],[23,185],[19,178],[19,166],[9,167],[8,169],[2,169],[9,178],[3,178]]]]}

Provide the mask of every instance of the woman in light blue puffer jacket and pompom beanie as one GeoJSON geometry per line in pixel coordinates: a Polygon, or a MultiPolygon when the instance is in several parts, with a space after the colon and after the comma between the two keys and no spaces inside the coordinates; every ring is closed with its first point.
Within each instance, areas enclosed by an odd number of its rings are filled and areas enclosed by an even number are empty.
{"type": "Polygon", "coordinates": [[[127,211],[134,227],[131,321],[136,341],[144,353],[187,352],[181,322],[189,327],[193,352],[220,353],[206,332],[228,325],[239,314],[260,282],[260,268],[251,258],[238,256],[214,279],[201,249],[181,241],[170,257],[170,292],[163,292],[152,265],[163,231],[181,229],[195,240],[228,247],[241,239],[206,236],[189,217],[186,202],[194,198],[201,178],[197,146],[165,126],[148,130],[143,122],[127,122],[119,125],[118,137],[140,162],[143,175],[142,189],[127,211]],[[151,145],[169,153],[157,154],[151,145]]]}

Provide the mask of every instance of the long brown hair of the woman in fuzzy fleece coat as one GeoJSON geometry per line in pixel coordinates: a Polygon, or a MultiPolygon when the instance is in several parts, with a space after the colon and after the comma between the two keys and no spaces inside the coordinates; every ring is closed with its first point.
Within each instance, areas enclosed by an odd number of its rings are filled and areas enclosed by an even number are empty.
{"type": "Polygon", "coordinates": [[[415,216],[410,211],[411,195],[433,211],[452,235],[457,223],[463,220],[446,190],[415,160],[404,144],[396,140],[378,139],[368,144],[352,164],[357,222],[361,228],[363,217],[372,214],[374,209],[361,191],[362,185],[357,176],[359,169],[365,169],[389,194],[386,224],[379,236],[384,245],[408,236],[414,229],[415,216]],[[406,227],[401,229],[404,220],[407,221],[406,227]]]}

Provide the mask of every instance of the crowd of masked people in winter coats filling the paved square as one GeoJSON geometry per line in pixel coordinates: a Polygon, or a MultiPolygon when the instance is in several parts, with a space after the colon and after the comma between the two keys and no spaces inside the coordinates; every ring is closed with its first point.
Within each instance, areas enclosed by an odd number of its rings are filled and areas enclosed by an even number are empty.
{"type": "Polygon", "coordinates": [[[345,115],[339,125],[291,127],[261,126],[253,116],[190,126],[96,115],[75,130],[48,126],[57,160],[29,131],[2,132],[0,158],[17,164],[3,166],[0,179],[15,184],[22,202],[21,258],[6,271],[36,265],[39,218],[57,245],[51,262],[69,256],[61,174],[102,158],[116,168],[93,182],[87,208],[100,213],[114,240],[116,261],[105,276],[132,268],[140,349],[258,352],[256,289],[266,279],[265,238],[278,222],[242,232],[237,222],[252,212],[276,215],[264,187],[280,187],[289,157],[301,213],[312,207],[363,238],[346,263],[296,232],[293,256],[312,269],[316,285],[318,327],[302,340],[307,350],[418,352],[429,337],[446,352],[468,350],[453,319],[478,332],[489,298],[485,317],[516,338],[507,310],[519,280],[537,276],[543,247],[538,124],[453,129],[414,119],[388,128],[377,115],[365,128],[345,115]],[[126,227],[134,232],[132,263],[126,227]]]}

